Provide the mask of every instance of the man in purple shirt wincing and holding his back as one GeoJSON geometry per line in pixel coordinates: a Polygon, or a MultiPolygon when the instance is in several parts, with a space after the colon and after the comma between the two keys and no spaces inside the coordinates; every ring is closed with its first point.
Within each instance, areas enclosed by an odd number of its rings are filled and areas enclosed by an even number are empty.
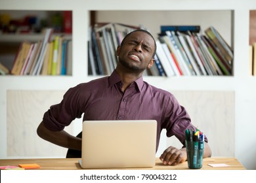
{"type": "MultiPolygon", "coordinates": [[[[161,129],[167,130],[167,137],[175,135],[183,144],[181,149],[167,148],[160,156],[163,164],[186,161],[185,130],[196,130],[196,127],[171,93],[142,79],[145,69],[154,64],[155,54],[156,42],[148,31],[129,33],[116,50],[119,61],[112,75],[70,88],[60,104],[45,112],[37,128],[39,137],[65,148],[81,150],[81,139],[66,133],[64,127],[82,114],[83,120],[156,120],[156,150],[161,129]]],[[[205,137],[203,158],[211,157],[207,141],[205,137]]]]}

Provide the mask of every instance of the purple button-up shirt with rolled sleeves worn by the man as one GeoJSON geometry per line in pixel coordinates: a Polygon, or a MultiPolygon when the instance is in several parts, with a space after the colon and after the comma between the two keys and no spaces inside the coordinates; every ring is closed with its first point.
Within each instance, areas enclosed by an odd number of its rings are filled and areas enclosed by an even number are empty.
{"type": "Polygon", "coordinates": [[[131,83],[124,93],[121,87],[116,71],[110,76],[78,84],[65,93],[61,103],[45,112],[43,122],[48,129],[60,131],[83,113],[83,120],[156,120],[156,150],[162,129],[167,130],[167,137],[175,135],[183,145],[185,130],[196,130],[173,94],[151,86],[142,77],[131,83]]]}

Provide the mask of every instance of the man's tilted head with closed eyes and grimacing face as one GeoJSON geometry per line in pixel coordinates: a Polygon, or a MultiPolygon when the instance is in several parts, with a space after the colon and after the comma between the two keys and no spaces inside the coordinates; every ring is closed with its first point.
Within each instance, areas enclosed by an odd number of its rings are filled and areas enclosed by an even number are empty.
{"type": "Polygon", "coordinates": [[[117,48],[119,62],[131,71],[144,71],[154,61],[154,39],[147,33],[135,31],[125,38],[123,45],[117,48]]]}

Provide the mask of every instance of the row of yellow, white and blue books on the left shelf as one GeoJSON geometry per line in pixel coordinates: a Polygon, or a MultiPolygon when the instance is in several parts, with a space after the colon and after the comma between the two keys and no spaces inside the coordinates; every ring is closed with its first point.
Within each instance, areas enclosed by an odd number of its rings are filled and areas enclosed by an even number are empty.
{"type": "Polygon", "coordinates": [[[42,40],[20,43],[12,75],[72,75],[72,41],[52,33],[47,28],[42,40]]]}

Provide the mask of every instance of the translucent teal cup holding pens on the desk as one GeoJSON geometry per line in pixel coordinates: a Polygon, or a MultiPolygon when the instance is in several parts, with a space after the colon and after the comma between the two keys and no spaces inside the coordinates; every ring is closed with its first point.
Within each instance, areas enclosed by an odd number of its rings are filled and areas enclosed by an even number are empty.
{"type": "Polygon", "coordinates": [[[188,168],[201,169],[203,164],[204,141],[186,141],[188,168]]]}

